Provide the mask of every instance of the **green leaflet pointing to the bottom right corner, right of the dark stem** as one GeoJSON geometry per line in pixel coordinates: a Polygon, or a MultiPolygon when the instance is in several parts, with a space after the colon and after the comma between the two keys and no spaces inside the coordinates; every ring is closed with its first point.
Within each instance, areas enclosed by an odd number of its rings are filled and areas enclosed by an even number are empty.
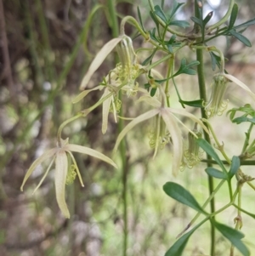
{"type": "Polygon", "coordinates": [[[225,238],[227,238],[229,240],[229,242],[231,242],[233,244],[233,246],[236,247],[243,256],[251,255],[248,248],[246,247],[246,245],[243,242],[241,242],[241,238],[243,238],[244,235],[240,231],[234,230],[231,227],[229,227],[227,225],[220,224],[216,221],[212,221],[212,225],[214,225],[215,228],[225,238]]]}

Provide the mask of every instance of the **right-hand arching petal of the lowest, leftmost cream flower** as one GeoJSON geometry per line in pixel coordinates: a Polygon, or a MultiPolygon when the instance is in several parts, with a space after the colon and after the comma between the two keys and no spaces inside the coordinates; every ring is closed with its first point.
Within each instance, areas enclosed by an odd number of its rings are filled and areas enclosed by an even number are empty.
{"type": "Polygon", "coordinates": [[[69,145],[66,145],[65,151],[73,151],[73,152],[86,154],[88,156],[94,156],[94,157],[99,158],[100,160],[102,160],[104,162],[108,162],[109,164],[111,164],[112,166],[117,168],[116,163],[113,162],[111,160],[111,158],[109,158],[108,156],[105,156],[104,154],[100,153],[99,151],[94,151],[93,149],[88,148],[86,146],[69,144],[69,145]]]}

